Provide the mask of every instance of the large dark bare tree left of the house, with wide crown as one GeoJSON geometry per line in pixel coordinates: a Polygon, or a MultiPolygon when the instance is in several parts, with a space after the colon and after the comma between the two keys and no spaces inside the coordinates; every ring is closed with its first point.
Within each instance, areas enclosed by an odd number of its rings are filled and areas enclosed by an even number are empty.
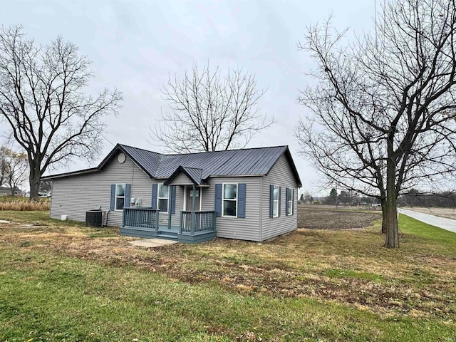
{"type": "Polygon", "coordinates": [[[36,46],[20,26],[0,29],[0,116],[26,151],[31,200],[48,168],[98,154],[103,118],[118,111],[117,90],[84,93],[93,78],[89,67],[88,58],[61,37],[36,46]]]}

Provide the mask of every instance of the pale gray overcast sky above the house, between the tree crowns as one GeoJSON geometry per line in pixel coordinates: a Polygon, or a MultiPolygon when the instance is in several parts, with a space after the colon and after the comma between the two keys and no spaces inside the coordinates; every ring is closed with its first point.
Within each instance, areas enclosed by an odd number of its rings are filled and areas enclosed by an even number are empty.
{"type": "MultiPolygon", "coordinates": [[[[162,152],[150,144],[149,128],[167,103],[160,88],[169,75],[183,76],[193,63],[239,67],[254,73],[261,112],[276,123],[248,147],[289,145],[303,190],[317,194],[320,178],[298,155],[293,130],[310,115],[296,97],[311,79],[313,63],[296,47],[306,26],[333,14],[333,26],[362,34],[373,29],[373,0],[321,1],[1,1],[0,23],[21,24],[24,33],[46,44],[61,35],[93,61],[88,92],[118,88],[123,108],[108,120],[103,157],[123,143],[162,152]]],[[[103,158],[101,157],[101,158],[103,158]]],[[[66,170],[92,167],[75,161],[66,170]]],[[[55,173],[55,172],[52,172],[55,173]]],[[[322,195],[327,195],[323,193],[322,195]]]]}

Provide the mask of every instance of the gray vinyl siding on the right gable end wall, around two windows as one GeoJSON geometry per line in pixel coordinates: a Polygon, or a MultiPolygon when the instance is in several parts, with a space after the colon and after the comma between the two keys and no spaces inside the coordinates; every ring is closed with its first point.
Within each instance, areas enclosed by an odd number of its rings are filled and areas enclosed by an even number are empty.
{"type": "Polygon", "coordinates": [[[290,164],[285,155],[277,160],[268,175],[263,178],[263,201],[261,216],[261,241],[271,239],[281,234],[292,232],[298,228],[298,188],[296,179],[291,171],[290,164]],[[270,186],[281,187],[280,217],[269,217],[269,192],[270,186]],[[286,216],[286,188],[294,189],[293,214],[286,216]]]}

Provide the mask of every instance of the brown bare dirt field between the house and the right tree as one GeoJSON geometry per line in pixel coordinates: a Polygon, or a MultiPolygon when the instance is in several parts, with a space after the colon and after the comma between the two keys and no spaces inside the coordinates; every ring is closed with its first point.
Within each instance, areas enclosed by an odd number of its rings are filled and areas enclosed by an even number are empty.
{"type": "Polygon", "coordinates": [[[378,212],[351,212],[300,207],[298,227],[306,229],[360,229],[381,218],[378,212]]]}

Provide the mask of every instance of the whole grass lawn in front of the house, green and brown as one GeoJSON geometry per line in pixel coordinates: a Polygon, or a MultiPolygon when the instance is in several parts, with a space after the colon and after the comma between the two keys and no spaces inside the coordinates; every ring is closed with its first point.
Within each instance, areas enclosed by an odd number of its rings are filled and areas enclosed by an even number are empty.
{"type": "Polygon", "coordinates": [[[0,341],[454,341],[456,234],[400,216],[147,250],[117,229],[0,212],[0,341]],[[63,225],[62,225],[63,224],[63,225]]]}

